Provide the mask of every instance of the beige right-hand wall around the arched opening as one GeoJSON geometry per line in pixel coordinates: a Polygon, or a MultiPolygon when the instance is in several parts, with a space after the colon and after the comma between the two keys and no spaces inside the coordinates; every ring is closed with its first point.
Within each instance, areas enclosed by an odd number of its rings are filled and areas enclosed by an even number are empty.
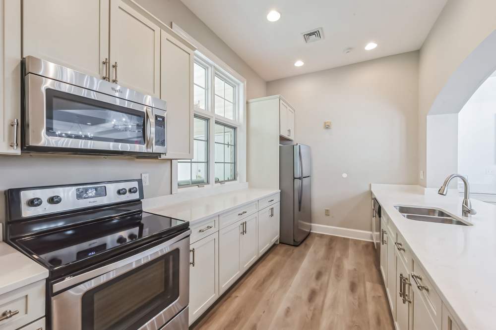
{"type": "MultiPolygon", "coordinates": [[[[429,36],[420,50],[419,61],[419,170],[425,171],[425,179],[420,184],[426,186],[427,177],[427,115],[433,103],[446,86],[449,79],[455,74],[464,60],[496,29],[496,1],[495,0],[449,0],[437,18],[429,36]]],[[[493,55],[494,58],[494,55],[493,55]]],[[[470,59],[470,58],[469,58],[470,59]]],[[[475,67],[474,67],[475,68],[475,67]]],[[[468,81],[470,68],[466,70],[465,85],[463,77],[460,79],[459,89],[446,93],[449,98],[467,93],[465,101],[491,74],[488,68],[484,74],[475,77],[475,84],[468,81]],[[474,86],[471,86],[474,85],[474,86]]],[[[463,74],[461,76],[464,76],[463,74]]],[[[458,112],[463,106],[457,104],[458,112]]],[[[437,112],[437,111],[435,111],[437,112]]],[[[437,114],[437,113],[436,113],[437,114]]]]}

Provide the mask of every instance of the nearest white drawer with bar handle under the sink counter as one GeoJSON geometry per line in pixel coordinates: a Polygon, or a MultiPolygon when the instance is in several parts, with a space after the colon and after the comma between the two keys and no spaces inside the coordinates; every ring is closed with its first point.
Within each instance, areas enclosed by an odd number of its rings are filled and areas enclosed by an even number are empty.
{"type": "Polygon", "coordinates": [[[416,299],[421,298],[424,300],[427,310],[431,317],[433,318],[437,329],[441,329],[442,320],[442,301],[437,292],[434,290],[432,283],[426,276],[424,269],[420,267],[419,264],[414,262],[413,273],[411,274],[411,283],[419,289],[419,293],[415,297],[416,299]]]}

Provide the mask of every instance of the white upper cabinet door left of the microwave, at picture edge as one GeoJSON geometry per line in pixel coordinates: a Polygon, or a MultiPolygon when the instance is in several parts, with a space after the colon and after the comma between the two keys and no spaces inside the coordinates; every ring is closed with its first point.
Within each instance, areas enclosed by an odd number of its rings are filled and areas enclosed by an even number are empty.
{"type": "Polygon", "coordinates": [[[4,154],[21,153],[20,66],[21,3],[0,0],[0,153],[4,154]]]}

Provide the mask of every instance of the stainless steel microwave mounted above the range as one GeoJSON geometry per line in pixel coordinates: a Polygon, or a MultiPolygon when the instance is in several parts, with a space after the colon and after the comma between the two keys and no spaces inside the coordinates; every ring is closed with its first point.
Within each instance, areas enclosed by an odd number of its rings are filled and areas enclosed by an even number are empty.
{"type": "Polygon", "coordinates": [[[35,74],[25,77],[25,150],[164,153],[165,139],[156,137],[165,133],[155,130],[155,122],[165,118],[164,110],[35,74]]]}

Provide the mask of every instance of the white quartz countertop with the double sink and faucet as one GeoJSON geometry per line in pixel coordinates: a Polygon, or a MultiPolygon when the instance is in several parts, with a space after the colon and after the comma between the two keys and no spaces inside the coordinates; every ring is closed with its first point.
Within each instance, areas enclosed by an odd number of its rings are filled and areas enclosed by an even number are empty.
{"type": "Polygon", "coordinates": [[[463,197],[419,186],[376,185],[378,199],[436,286],[441,299],[470,330],[495,329],[496,205],[472,199],[476,215],[463,217],[463,197]],[[440,208],[473,226],[408,220],[395,205],[440,208]]]}

